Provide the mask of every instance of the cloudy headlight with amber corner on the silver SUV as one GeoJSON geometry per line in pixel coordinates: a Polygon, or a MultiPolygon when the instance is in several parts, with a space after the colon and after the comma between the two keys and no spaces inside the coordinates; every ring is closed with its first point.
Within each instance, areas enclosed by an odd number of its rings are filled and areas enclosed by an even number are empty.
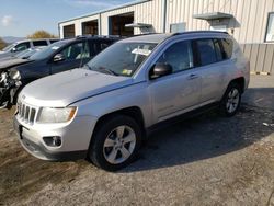
{"type": "Polygon", "coordinates": [[[38,123],[66,123],[73,118],[77,108],[65,107],[65,108],[50,108],[43,107],[37,122],[38,123]]]}

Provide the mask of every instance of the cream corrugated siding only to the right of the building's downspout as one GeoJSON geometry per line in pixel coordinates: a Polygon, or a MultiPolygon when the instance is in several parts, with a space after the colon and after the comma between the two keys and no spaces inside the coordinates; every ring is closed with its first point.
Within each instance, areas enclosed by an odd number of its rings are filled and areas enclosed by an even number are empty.
{"type": "Polygon", "coordinates": [[[167,7],[167,30],[179,22],[185,22],[187,30],[209,30],[207,21],[195,20],[193,14],[225,12],[235,16],[228,27],[235,28],[238,42],[263,43],[267,13],[274,11],[274,0],[169,0],[167,7]]]}

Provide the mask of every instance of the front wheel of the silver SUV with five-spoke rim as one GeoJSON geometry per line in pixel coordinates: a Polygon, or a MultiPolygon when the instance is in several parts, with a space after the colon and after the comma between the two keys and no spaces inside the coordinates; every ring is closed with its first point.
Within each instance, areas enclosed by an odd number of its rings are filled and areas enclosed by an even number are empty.
{"type": "Polygon", "coordinates": [[[129,116],[114,115],[98,126],[88,156],[98,168],[116,171],[135,160],[140,145],[140,126],[129,116]]]}

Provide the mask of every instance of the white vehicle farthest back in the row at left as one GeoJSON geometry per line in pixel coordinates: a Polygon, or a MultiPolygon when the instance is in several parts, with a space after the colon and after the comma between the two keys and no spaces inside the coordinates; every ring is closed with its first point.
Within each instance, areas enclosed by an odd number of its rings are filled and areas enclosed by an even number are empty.
{"type": "Polygon", "coordinates": [[[18,53],[26,50],[27,48],[48,46],[58,41],[59,39],[57,38],[38,38],[38,39],[25,39],[25,41],[13,43],[4,47],[2,50],[0,50],[0,60],[9,56],[14,56],[18,53]]]}

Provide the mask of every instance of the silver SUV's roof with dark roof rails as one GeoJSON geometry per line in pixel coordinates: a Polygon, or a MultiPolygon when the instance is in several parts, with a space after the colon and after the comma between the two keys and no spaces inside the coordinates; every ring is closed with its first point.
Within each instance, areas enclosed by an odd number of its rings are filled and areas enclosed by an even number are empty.
{"type": "Polygon", "coordinates": [[[189,31],[189,32],[182,32],[182,33],[161,33],[161,34],[145,34],[145,35],[138,35],[134,37],[129,37],[126,39],[123,39],[122,42],[146,42],[146,43],[161,43],[172,36],[189,36],[193,35],[193,37],[204,36],[204,35],[222,35],[228,36],[228,33],[226,32],[217,32],[217,31],[189,31]]]}

